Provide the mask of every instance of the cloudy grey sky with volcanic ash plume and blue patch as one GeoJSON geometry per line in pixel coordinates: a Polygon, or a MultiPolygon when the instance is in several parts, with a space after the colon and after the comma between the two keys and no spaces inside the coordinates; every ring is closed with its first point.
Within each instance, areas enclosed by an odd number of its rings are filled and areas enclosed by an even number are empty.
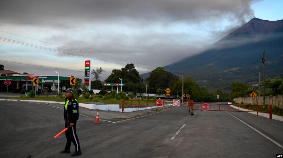
{"type": "Polygon", "coordinates": [[[254,16],[283,19],[282,0],[1,0],[5,70],[83,78],[134,63],[146,73],[195,55],[254,16]],[[272,3],[271,3],[272,2],[272,3]]]}

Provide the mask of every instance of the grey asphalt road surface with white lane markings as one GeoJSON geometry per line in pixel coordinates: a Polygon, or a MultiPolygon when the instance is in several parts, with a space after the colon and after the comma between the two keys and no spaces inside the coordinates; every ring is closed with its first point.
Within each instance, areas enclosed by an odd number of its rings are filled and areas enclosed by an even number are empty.
{"type": "MultiPolygon", "coordinates": [[[[0,108],[0,157],[70,157],[70,154],[59,154],[65,147],[65,136],[53,138],[64,129],[62,109],[13,101],[0,101],[0,108]]],[[[283,148],[274,143],[283,145],[281,121],[249,113],[231,113],[272,142],[226,112],[194,112],[195,116],[190,116],[187,107],[167,108],[128,120],[114,118],[129,117],[129,114],[110,113],[113,115],[110,120],[116,123],[94,124],[90,118],[94,117],[94,111],[80,108],[80,113],[85,115],[79,116],[77,125],[83,152],[80,157],[265,158],[283,153],[283,148]]]]}

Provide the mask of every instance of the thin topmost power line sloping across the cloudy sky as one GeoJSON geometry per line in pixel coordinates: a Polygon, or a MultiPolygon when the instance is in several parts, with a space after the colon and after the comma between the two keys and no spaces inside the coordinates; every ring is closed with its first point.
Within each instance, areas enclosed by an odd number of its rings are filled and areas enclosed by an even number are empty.
{"type": "MultiPolygon", "coordinates": [[[[110,56],[107,56],[107,55],[101,55],[101,54],[98,54],[98,53],[89,52],[89,51],[85,51],[85,50],[79,50],[79,49],[76,49],[76,48],[67,47],[67,46],[63,46],[63,45],[58,45],[58,44],[55,44],[55,43],[46,42],[46,41],[42,41],[42,40],[37,40],[37,39],[34,39],[34,38],[25,37],[25,36],[21,36],[21,35],[18,35],[18,34],[13,34],[13,33],[10,33],[10,32],[5,32],[5,31],[1,31],[1,30],[0,30],[0,32],[4,32],[4,33],[7,33],[7,34],[12,34],[12,35],[19,36],[19,37],[28,38],[28,39],[31,39],[31,40],[45,42],[45,43],[48,43],[48,44],[57,45],[57,46],[61,46],[61,47],[65,47],[65,48],[69,48],[69,49],[73,49],[73,50],[78,50],[78,51],[81,51],[81,52],[87,52],[87,53],[91,53],[91,54],[96,54],[96,55],[100,55],[100,56],[103,56],[103,57],[110,57],[110,56]]],[[[124,59],[120,59],[120,58],[116,58],[116,57],[110,57],[110,58],[118,59],[118,60],[124,60],[124,59]]],[[[131,62],[131,63],[138,63],[138,64],[141,64],[141,65],[148,65],[148,64],[144,64],[144,63],[140,63],[140,62],[133,62],[133,61],[130,61],[130,60],[124,60],[124,61],[131,62]]],[[[157,67],[155,65],[148,65],[148,66],[157,67]]]]}

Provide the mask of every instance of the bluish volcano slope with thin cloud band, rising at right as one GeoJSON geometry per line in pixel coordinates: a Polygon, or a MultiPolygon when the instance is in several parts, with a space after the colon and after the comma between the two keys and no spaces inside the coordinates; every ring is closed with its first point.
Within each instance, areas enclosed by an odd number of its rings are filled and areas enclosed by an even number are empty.
{"type": "MultiPolygon", "coordinates": [[[[167,65],[164,69],[172,73],[184,69],[185,76],[193,77],[200,86],[212,87],[212,90],[228,90],[232,82],[255,84],[258,82],[258,72],[263,72],[261,55],[264,49],[281,40],[283,20],[254,18],[208,50],[167,65]]],[[[283,77],[283,42],[266,52],[266,78],[275,76],[283,77]]]]}

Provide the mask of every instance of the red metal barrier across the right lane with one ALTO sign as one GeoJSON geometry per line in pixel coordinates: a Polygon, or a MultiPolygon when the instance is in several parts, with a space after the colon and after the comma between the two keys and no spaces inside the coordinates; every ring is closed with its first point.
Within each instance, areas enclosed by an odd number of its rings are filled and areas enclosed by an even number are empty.
{"type": "MultiPolygon", "coordinates": [[[[202,105],[204,103],[192,103],[192,111],[193,110],[200,110],[203,111],[202,109],[202,105]],[[199,104],[200,108],[196,108],[195,106],[199,104]]],[[[207,103],[209,105],[209,109],[207,111],[227,111],[227,112],[254,112],[258,115],[258,113],[269,113],[269,118],[272,119],[272,105],[249,105],[249,104],[222,104],[222,103],[207,103]],[[235,108],[231,107],[230,105],[236,106],[238,107],[238,110],[233,110],[235,108]],[[227,109],[224,109],[222,107],[228,107],[227,109]],[[240,106],[246,106],[247,111],[241,111],[240,110],[240,106]],[[255,107],[254,110],[251,110],[251,107],[255,107]],[[269,107],[269,108],[265,108],[265,107],[269,107]],[[260,111],[259,108],[261,108],[263,111],[260,111]],[[266,111],[264,111],[266,110],[266,111]]]]}

